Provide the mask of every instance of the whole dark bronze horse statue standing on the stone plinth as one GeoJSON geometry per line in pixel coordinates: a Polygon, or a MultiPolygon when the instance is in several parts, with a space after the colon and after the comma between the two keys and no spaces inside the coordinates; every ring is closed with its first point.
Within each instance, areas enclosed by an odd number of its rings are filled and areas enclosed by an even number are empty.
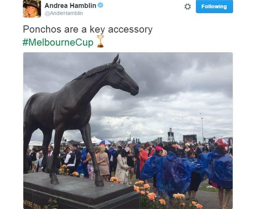
{"type": "MultiPolygon", "coordinates": [[[[47,156],[52,130],[55,129],[53,161],[49,173],[51,184],[59,184],[55,174],[55,164],[63,133],[65,130],[78,129],[92,156],[96,175],[95,185],[98,187],[104,186],[91,141],[90,101],[106,85],[129,92],[133,96],[139,92],[138,85],[120,65],[118,56],[114,58],[112,63],[95,67],[81,74],[59,91],[53,93],[40,92],[28,99],[24,108],[24,170],[26,167],[26,152],[32,133],[37,129],[43,132],[42,150],[44,156],[47,156]]],[[[46,166],[49,168],[47,157],[46,166]]]]}

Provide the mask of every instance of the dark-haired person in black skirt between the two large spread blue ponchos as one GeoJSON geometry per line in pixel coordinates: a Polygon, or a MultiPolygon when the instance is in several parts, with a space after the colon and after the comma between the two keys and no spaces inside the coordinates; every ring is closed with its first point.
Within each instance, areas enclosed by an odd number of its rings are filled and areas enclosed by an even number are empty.
{"type": "Polygon", "coordinates": [[[191,181],[190,181],[190,187],[188,190],[188,195],[189,198],[191,198],[191,194],[192,194],[192,198],[196,198],[196,192],[198,190],[198,187],[201,183],[201,181],[204,180],[204,168],[202,166],[202,162],[198,159],[195,158],[195,153],[193,150],[189,150],[187,152],[187,156],[185,157],[186,160],[188,160],[189,162],[192,162],[193,164],[197,164],[198,166],[201,166],[201,169],[198,172],[192,172],[191,174],[191,181]]]}

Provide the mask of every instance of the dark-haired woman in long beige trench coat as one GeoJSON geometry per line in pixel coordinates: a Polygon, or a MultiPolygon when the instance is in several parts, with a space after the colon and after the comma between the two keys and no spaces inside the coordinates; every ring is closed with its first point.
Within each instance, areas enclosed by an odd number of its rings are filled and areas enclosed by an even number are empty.
{"type": "Polygon", "coordinates": [[[120,154],[117,156],[117,166],[115,177],[122,180],[124,183],[128,181],[128,175],[126,171],[130,170],[131,167],[127,165],[127,152],[124,149],[121,149],[120,154]]]}

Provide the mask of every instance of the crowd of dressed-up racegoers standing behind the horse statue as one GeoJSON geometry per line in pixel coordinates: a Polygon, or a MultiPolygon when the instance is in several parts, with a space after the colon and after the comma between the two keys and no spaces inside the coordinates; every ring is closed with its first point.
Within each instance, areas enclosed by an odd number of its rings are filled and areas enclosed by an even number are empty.
{"type": "MultiPolygon", "coordinates": [[[[157,145],[146,142],[126,146],[96,145],[94,152],[100,175],[103,181],[109,181],[112,173],[123,183],[130,185],[136,174],[136,179],[147,183],[153,178],[153,192],[163,194],[172,199],[175,193],[188,192],[188,198],[196,198],[199,184],[205,174],[209,184],[219,189],[221,208],[226,208],[232,189],[232,154],[233,148],[227,144],[216,144],[212,141],[206,144],[178,144],[176,142],[157,145]],[[224,162],[224,163],[223,163],[224,162]],[[221,166],[225,165],[223,168],[221,166]],[[223,169],[226,169],[223,172],[223,169]],[[218,173],[219,172],[219,173],[218,173]],[[225,173],[226,172],[226,173],[225,173]],[[223,190],[226,190],[223,203],[223,190]]],[[[49,145],[48,155],[52,162],[53,147],[49,145]]],[[[42,150],[28,150],[27,171],[49,172],[46,168],[42,150]]],[[[67,165],[70,173],[77,171],[84,178],[95,179],[92,156],[86,147],[65,146],[60,150],[56,163],[56,174],[61,165],[67,165]]]]}

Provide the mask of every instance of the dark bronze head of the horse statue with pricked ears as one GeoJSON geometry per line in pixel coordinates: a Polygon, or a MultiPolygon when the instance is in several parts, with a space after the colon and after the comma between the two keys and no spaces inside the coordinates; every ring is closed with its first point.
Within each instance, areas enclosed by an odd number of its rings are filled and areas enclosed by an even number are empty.
{"type": "Polygon", "coordinates": [[[109,68],[106,74],[106,85],[129,92],[132,96],[135,96],[139,92],[139,86],[125,72],[124,67],[120,65],[120,58],[118,60],[118,56],[119,54],[112,63],[106,65],[106,68],[109,68]]]}

